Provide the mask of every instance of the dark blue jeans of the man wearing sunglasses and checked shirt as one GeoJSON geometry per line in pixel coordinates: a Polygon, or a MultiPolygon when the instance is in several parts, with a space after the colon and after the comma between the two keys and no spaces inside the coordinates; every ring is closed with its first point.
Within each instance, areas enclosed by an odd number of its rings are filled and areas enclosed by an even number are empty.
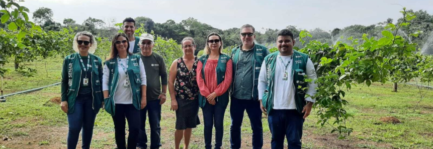
{"type": "Polygon", "coordinates": [[[230,102],[230,148],[240,148],[240,127],[243,113],[246,110],[252,130],[252,148],[260,149],[263,146],[262,110],[257,100],[242,100],[232,98],[230,102]]]}

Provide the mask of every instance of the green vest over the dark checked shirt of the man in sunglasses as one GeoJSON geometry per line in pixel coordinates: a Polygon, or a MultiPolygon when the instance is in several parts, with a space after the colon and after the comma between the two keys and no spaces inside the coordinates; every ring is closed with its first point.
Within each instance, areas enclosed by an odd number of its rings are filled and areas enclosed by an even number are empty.
{"type": "MultiPolygon", "coordinates": [[[[230,94],[233,94],[234,91],[234,81],[236,76],[236,69],[237,69],[237,63],[239,61],[239,52],[242,50],[242,45],[236,46],[231,51],[231,59],[233,61],[233,81],[230,89],[230,94]]],[[[258,99],[258,90],[257,90],[257,84],[258,84],[258,74],[260,74],[260,68],[262,67],[263,59],[269,54],[269,50],[267,47],[260,45],[260,44],[254,44],[253,48],[253,56],[251,59],[253,71],[252,77],[254,78],[253,81],[253,87],[252,89],[252,99],[257,100],[258,99]]]]}

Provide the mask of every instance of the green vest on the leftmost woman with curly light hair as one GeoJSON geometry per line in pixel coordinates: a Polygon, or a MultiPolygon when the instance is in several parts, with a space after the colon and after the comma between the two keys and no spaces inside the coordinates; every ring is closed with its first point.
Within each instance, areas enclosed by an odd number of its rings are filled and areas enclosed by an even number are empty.
{"type": "MultiPolygon", "coordinates": [[[[89,53],[92,64],[92,108],[95,113],[99,112],[103,100],[102,93],[102,60],[100,57],[89,53]]],[[[68,113],[74,112],[75,99],[78,95],[79,84],[81,83],[81,63],[79,53],[67,55],[63,61],[61,100],[68,102],[68,113]]]]}

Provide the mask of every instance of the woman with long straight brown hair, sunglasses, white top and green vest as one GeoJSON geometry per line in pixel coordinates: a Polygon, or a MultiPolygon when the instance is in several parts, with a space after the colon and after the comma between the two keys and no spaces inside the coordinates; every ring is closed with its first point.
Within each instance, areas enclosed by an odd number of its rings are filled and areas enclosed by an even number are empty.
{"type": "Polygon", "coordinates": [[[105,61],[103,92],[105,109],[113,117],[116,144],[125,147],[125,117],[128,120],[128,148],[135,148],[140,125],[140,109],[146,106],[146,72],[139,55],[132,54],[128,37],[113,37],[110,56],[105,61]]]}

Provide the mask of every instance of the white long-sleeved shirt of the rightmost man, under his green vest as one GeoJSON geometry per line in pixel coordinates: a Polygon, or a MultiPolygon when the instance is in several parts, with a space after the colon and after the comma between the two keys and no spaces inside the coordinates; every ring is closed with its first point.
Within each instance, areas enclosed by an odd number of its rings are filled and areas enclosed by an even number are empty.
{"type": "MultiPolygon", "coordinates": [[[[293,86],[293,77],[292,75],[292,58],[289,56],[281,56],[284,63],[280,60],[281,55],[277,55],[277,61],[275,66],[275,76],[274,76],[274,109],[296,109],[295,103],[295,88],[293,86]],[[290,64],[286,68],[286,64],[288,61],[291,61],[290,64]],[[285,70],[288,72],[287,80],[283,80],[283,74],[285,70]]],[[[298,74],[294,74],[298,75],[298,74]]],[[[314,64],[310,58],[308,58],[306,65],[306,75],[308,78],[313,79],[312,82],[307,83],[307,91],[306,93],[313,96],[316,94],[315,88],[317,84],[314,81],[317,79],[316,71],[314,69],[314,64]]],[[[258,99],[263,99],[263,92],[268,87],[268,78],[266,74],[266,63],[262,63],[262,68],[260,70],[260,74],[258,76],[258,99]]],[[[306,97],[306,101],[315,102],[316,100],[311,97],[306,97]]]]}

